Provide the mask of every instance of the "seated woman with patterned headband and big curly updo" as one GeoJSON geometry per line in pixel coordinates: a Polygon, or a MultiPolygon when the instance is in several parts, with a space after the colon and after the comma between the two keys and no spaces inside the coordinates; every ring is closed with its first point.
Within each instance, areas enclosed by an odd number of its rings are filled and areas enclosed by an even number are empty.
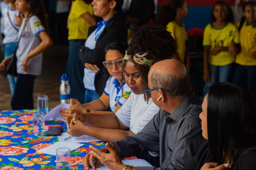
{"type": "Polygon", "coordinates": [[[95,114],[83,108],[72,108],[72,117],[66,122],[68,132],[72,136],[90,135],[105,142],[140,132],[159,111],[144,92],[148,88],[149,69],[155,62],[171,58],[175,51],[174,39],[165,27],[145,25],[135,28],[123,66],[131,96],[115,114],[95,114]]]}

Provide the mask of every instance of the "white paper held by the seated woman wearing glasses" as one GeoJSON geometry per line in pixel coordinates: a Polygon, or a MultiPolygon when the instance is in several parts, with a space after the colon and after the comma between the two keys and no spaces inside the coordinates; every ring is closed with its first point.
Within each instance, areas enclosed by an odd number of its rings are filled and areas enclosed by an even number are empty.
{"type": "Polygon", "coordinates": [[[60,119],[61,121],[63,122],[66,122],[65,119],[63,119],[61,117],[61,114],[60,114],[60,110],[62,109],[66,109],[66,110],[69,110],[70,109],[70,106],[69,104],[59,104],[58,106],[56,106],[53,110],[51,110],[49,113],[47,113],[45,116],[44,116],[44,120],[49,120],[49,119],[52,119],[52,118],[57,118],[57,119],[60,119]]]}

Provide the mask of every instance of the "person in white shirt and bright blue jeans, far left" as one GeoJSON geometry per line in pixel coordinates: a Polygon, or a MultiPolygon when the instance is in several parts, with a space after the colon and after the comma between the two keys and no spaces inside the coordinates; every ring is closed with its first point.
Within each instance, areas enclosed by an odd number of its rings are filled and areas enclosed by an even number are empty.
{"type": "MultiPolygon", "coordinates": [[[[15,52],[18,42],[18,30],[20,26],[15,24],[15,15],[19,15],[15,7],[15,1],[16,0],[6,0],[6,2],[10,2],[10,6],[6,7],[3,11],[1,11],[5,35],[5,38],[3,40],[3,44],[5,47],[5,58],[11,56],[15,52]]],[[[9,74],[7,75],[7,77],[10,84],[10,90],[13,95],[16,85],[16,78],[9,74]]]]}

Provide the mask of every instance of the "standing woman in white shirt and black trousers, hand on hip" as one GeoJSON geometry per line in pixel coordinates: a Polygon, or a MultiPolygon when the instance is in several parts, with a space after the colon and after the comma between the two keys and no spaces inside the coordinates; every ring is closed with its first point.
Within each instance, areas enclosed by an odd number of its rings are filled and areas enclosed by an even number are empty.
{"type": "MultiPolygon", "coordinates": [[[[17,82],[12,96],[13,110],[33,109],[33,88],[36,76],[42,71],[42,52],[52,40],[47,34],[47,20],[42,0],[17,0],[17,10],[24,13],[24,19],[18,32],[21,36],[17,56],[17,82]]],[[[5,70],[11,57],[0,64],[0,70],[5,70]]]]}

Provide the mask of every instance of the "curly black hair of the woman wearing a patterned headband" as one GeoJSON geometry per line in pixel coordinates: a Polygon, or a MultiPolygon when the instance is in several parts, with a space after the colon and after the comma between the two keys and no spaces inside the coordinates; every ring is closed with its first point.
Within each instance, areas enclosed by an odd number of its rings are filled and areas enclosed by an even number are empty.
{"type": "MultiPolygon", "coordinates": [[[[132,30],[131,45],[127,49],[128,55],[150,51],[155,57],[155,62],[171,59],[176,53],[176,42],[166,27],[160,25],[144,25],[132,30]]],[[[134,61],[132,61],[134,62],[134,61]]],[[[127,61],[123,64],[123,73],[127,61]]],[[[154,63],[153,63],[154,64],[154,63]]],[[[142,87],[148,88],[148,74],[150,68],[134,62],[135,67],[142,75],[142,87]]],[[[124,79],[124,75],[122,77],[124,79]]]]}

